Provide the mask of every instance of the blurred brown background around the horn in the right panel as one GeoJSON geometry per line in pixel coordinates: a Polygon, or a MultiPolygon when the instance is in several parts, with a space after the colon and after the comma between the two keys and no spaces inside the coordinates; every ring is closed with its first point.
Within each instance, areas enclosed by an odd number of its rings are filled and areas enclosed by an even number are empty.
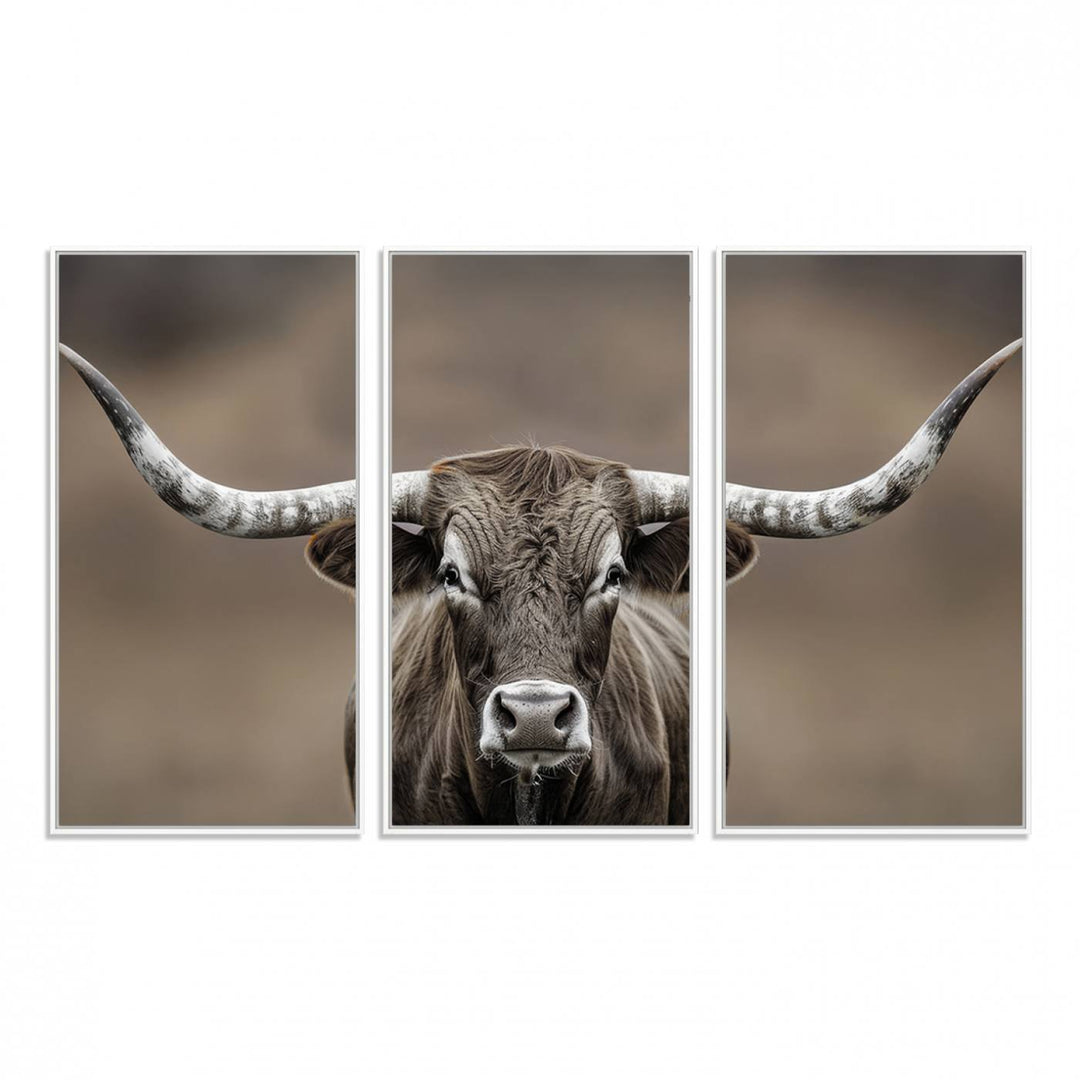
{"type": "MultiPolygon", "coordinates": [[[[818,489],[887,461],[1023,333],[1017,255],[726,256],[727,476],[818,489]]],[[[869,528],[761,539],[727,590],[729,825],[1023,821],[1022,380],[869,528]]]]}

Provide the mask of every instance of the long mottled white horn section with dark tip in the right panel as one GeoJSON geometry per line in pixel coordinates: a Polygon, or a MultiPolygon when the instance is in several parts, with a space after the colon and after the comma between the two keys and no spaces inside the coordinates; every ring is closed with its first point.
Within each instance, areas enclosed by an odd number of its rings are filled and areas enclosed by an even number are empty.
{"type": "Polygon", "coordinates": [[[757,536],[801,540],[840,536],[883,517],[906,502],[933,472],[971,403],[1023,345],[1024,339],[1017,338],[983,361],[877,472],[824,491],[779,491],[728,484],[728,521],[757,536]]]}

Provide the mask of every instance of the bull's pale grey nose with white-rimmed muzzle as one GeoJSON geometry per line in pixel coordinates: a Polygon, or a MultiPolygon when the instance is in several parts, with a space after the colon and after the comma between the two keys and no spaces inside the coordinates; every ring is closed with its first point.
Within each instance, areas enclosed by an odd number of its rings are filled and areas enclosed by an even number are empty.
{"type": "Polygon", "coordinates": [[[481,750],[588,753],[589,713],[581,693],[566,683],[504,683],[484,707],[481,750]]]}

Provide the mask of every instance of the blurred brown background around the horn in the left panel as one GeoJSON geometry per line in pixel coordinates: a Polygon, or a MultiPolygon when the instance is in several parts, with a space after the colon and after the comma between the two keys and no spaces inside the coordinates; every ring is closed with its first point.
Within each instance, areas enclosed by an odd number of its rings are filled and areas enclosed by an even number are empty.
{"type": "MultiPolygon", "coordinates": [[[[58,296],[60,340],[192,469],[354,475],[352,256],[63,255],[58,296]]],[[[161,502],[58,363],[59,824],[352,824],[352,605],[303,539],[161,502]]]]}

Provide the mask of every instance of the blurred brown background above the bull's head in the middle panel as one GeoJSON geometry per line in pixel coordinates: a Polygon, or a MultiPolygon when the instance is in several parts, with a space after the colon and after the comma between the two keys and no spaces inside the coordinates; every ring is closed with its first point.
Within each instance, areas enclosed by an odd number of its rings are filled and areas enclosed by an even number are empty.
{"type": "Polygon", "coordinates": [[[392,256],[393,468],[535,441],[689,471],[688,255],[392,256]]]}

